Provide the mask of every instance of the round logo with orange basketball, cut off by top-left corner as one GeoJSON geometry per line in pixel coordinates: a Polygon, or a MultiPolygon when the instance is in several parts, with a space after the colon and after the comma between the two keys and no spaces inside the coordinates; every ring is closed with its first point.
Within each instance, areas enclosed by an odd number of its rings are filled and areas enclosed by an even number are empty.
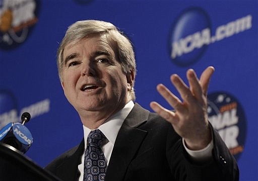
{"type": "Polygon", "coordinates": [[[22,44],[38,21],[38,10],[39,1],[1,1],[0,48],[8,50],[22,44]]]}

